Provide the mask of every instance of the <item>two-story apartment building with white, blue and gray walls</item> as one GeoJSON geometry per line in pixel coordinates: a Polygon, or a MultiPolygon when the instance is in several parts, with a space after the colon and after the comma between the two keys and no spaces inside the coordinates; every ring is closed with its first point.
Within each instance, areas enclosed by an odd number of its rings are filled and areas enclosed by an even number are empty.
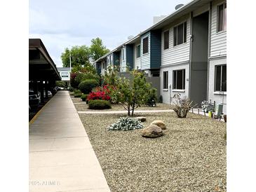
{"type": "MultiPolygon", "coordinates": [[[[194,0],[95,62],[119,53],[121,72],[160,76],[160,95],[177,92],[194,103],[211,100],[227,111],[227,1],[194,0]]],[[[114,59],[113,59],[114,60],[114,59]]]]}

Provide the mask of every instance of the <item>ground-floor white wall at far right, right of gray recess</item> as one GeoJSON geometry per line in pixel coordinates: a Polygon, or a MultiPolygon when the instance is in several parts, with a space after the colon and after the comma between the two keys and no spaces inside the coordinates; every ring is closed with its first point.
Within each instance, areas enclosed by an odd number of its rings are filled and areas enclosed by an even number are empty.
{"type": "MultiPolygon", "coordinates": [[[[220,92],[214,92],[215,85],[215,66],[219,64],[227,64],[227,58],[219,59],[219,60],[210,60],[209,67],[209,92],[208,99],[216,102],[216,104],[222,103],[222,95],[220,92]]],[[[227,93],[225,93],[227,94],[227,93]]],[[[224,95],[224,104],[223,104],[223,112],[227,113],[227,95],[224,95]]]]}

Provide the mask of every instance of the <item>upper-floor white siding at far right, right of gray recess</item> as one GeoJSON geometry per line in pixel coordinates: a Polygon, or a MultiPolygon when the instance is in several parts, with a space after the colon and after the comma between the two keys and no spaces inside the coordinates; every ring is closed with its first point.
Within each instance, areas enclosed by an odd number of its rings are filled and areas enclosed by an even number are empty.
{"type": "Polygon", "coordinates": [[[227,32],[217,32],[217,6],[225,1],[213,2],[210,57],[227,55],[227,32]]]}

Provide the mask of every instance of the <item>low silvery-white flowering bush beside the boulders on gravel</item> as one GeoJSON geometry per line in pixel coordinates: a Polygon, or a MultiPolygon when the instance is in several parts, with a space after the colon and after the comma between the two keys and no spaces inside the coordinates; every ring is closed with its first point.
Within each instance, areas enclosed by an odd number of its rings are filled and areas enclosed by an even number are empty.
{"type": "Polygon", "coordinates": [[[143,128],[142,123],[136,118],[121,117],[119,121],[109,125],[108,130],[135,130],[143,128]]]}

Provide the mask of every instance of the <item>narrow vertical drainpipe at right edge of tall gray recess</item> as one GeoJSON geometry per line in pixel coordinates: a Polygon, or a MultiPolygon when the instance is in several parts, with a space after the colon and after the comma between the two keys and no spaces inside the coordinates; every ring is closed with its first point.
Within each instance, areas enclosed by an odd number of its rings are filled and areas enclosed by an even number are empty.
{"type": "Polygon", "coordinates": [[[211,40],[211,34],[212,34],[212,11],[213,11],[213,1],[210,1],[209,27],[208,27],[207,100],[209,100],[210,40],[211,40]]]}

